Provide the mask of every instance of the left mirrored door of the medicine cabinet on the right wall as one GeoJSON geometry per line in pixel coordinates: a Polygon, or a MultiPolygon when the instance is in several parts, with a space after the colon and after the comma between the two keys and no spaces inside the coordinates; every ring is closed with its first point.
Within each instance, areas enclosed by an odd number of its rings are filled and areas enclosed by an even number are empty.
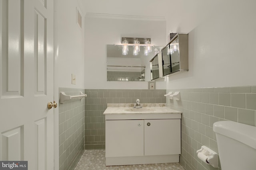
{"type": "Polygon", "coordinates": [[[172,72],[171,70],[171,57],[170,57],[170,46],[166,45],[162,49],[162,65],[163,65],[163,76],[166,76],[172,72]]]}

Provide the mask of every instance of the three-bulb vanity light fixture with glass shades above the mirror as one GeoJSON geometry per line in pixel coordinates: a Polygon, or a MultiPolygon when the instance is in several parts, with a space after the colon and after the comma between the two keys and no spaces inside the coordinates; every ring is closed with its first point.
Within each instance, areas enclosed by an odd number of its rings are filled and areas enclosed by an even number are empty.
{"type": "Polygon", "coordinates": [[[128,46],[133,46],[133,55],[138,55],[140,52],[140,46],[144,47],[144,55],[149,55],[152,52],[152,45],[150,38],[130,38],[122,37],[122,54],[128,54],[128,46]],[[129,42],[133,42],[132,44],[129,42]]]}

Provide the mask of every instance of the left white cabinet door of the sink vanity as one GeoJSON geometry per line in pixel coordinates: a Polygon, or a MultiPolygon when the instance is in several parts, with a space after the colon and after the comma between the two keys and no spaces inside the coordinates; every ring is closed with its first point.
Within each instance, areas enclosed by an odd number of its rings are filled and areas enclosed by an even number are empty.
{"type": "Polygon", "coordinates": [[[144,120],[106,120],[106,157],[143,155],[144,120]]]}

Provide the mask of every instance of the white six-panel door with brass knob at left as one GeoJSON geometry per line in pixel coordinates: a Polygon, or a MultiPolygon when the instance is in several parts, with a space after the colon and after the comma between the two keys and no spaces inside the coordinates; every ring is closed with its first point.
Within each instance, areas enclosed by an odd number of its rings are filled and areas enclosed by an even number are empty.
{"type": "Polygon", "coordinates": [[[54,169],[53,0],[0,0],[0,160],[54,169]]]}

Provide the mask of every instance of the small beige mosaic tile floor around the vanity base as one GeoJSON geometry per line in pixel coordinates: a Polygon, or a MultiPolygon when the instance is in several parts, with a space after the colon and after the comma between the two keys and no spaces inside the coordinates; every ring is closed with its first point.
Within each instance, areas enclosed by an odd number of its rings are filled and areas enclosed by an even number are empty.
{"type": "Polygon", "coordinates": [[[105,150],[85,150],[74,170],[185,170],[180,163],[106,166],[105,150]]]}

